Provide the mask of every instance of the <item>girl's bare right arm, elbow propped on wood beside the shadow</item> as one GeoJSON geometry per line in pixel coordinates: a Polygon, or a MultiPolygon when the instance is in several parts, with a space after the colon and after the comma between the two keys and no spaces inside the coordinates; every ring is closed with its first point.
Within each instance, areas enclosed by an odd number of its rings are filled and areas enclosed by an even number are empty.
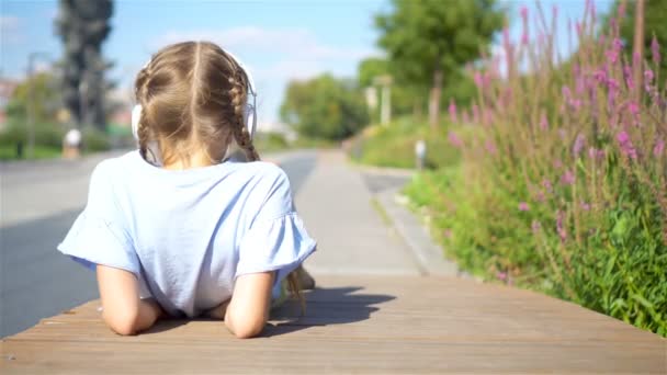
{"type": "Polygon", "coordinates": [[[240,275],[225,312],[225,326],[239,339],[258,336],[269,320],[274,272],[240,275]]]}

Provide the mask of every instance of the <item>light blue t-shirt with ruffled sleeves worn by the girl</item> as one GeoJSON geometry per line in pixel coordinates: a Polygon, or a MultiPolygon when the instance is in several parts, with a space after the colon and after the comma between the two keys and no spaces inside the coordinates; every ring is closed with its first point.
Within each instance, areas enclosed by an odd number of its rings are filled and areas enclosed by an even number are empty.
{"type": "Polygon", "coordinates": [[[88,204],[58,250],[94,270],[133,272],[140,297],[196,317],[231,296],[237,276],[280,282],[313,251],[286,174],[268,162],[167,170],[138,150],[100,162],[88,204]]]}

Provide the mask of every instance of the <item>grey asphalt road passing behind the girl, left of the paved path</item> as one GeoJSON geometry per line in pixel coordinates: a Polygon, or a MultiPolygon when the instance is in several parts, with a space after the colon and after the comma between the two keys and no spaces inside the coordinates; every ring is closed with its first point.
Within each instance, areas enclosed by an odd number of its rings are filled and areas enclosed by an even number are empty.
{"type": "MultiPolygon", "coordinates": [[[[99,297],[94,273],[60,254],[56,246],[83,209],[92,168],[109,156],[0,166],[0,337],[99,297]]],[[[296,195],[316,164],[316,154],[274,159],[296,195]]]]}

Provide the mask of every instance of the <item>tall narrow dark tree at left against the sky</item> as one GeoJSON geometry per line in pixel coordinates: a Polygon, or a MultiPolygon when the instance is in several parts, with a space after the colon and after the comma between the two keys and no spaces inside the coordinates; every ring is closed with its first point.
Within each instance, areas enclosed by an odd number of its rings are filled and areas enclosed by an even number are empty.
{"type": "Polygon", "coordinates": [[[104,71],[112,65],[102,57],[113,13],[111,0],[60,0],[56,29],[65,44],[64,100],[77,125],[104,130],[104,96],[111,86],[104,71]]]}

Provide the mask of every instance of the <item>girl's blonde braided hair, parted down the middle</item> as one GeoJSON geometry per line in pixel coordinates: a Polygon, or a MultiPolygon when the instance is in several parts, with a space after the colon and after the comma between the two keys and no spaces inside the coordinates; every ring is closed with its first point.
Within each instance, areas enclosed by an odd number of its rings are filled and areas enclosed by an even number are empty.
{"type": "MultiPolygon", "coordinates": [[[[210,42],[169,45],[138,72],[135,96],[142,105],[138,138],[144,159],[148,143],[158,143],[165,164],[203,151],[212,163],[223,160],[231,140],[249,161],[260,160],[245,124],[248,76],[236,59],[210,42]]],[[[304,306],[295,272],[290,289],[304,306]]]]}

